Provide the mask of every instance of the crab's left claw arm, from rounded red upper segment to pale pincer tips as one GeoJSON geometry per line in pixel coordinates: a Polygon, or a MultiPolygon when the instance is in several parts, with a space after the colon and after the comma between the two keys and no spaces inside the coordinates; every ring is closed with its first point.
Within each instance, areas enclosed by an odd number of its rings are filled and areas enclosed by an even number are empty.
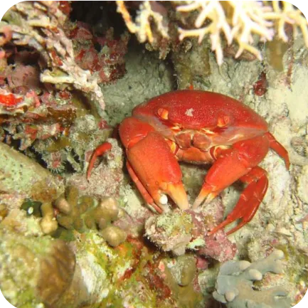
{"type": "Polygon", "coordinates": [[[121,123],[120,137],[127,149],[129,166],[135,174],[134,182],[147,197],[145,201],[151,196],[162,210],[168,201],[166,195],[169,195],[179,208],[188,208],[179,163],[164,137],[147,122],[134,117],[121,123]]]}

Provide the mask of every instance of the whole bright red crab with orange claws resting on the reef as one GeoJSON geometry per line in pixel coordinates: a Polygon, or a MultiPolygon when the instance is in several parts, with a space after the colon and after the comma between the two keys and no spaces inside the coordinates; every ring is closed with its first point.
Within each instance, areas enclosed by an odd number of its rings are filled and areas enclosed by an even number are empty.
{"type": "MultiPolygon", "coordinates": [[[[267,173],[257,166],[269,149],[285,159],[287,150],[268,132],[267,122],[238,100],[214,92],[178,90],[152,98],[132,110],[122,121],[120,139],[127,152],[127,169],[144,200],[159,213],[171,197],[179,208],[189,207],[178,161],[213,164],[193,203],[209,203],[224,188],[240,180],[247,184],[235,208],[210,235],[229,223],[248,223],[267,191],[267,173]]],[[[97,147],[87,178],[97,156],[111,149],[97,147]]]]}

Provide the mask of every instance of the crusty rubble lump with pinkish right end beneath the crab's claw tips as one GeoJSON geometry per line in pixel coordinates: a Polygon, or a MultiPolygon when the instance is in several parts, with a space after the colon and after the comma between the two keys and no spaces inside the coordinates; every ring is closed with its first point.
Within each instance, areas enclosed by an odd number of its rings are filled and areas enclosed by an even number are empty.
{"type": "Polygon", "coordinates": [[[145,235],[159,248],[175,255],[193,250],[198,255],[224,262],[234,257],[236,247],[223,231],[206,235],[213,228],[215,218],[217,215],[211,213],[175,210],[150,217],[145,223],[145,235]]]}

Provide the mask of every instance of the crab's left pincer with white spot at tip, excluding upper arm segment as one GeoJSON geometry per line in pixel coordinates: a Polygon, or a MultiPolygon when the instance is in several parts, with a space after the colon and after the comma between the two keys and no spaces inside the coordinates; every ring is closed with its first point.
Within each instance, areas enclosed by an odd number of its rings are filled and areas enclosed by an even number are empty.
{"type": "Polygon", "coordinates": [[[160,134],[150,133],[127,149],[127,159],[127,169],[132,180],[156,211],[163,211],[168,202],[166,195],[179,208],[188,208],[188,198],[181,182],[181,169],[160,134]]]}

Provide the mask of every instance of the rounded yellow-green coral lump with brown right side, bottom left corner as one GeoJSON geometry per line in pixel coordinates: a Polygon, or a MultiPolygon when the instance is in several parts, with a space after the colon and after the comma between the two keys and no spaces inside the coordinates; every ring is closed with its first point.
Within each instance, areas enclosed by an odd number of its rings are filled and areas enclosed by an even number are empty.
{"type": "Polygon", "coordinates": [[[75,255],[61,240],[27,237],[0,226],[0,290],[14,307],[51,307],[70,287],[75,255]]]}

